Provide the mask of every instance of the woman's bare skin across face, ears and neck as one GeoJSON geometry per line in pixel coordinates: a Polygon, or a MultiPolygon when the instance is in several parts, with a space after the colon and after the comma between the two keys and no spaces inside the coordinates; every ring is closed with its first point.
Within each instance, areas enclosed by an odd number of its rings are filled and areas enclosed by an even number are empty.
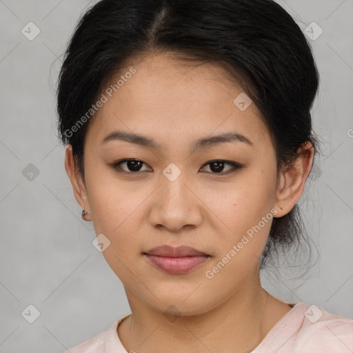
{"type": "MultiPolygon", "coordinates": [[[[103,256],[121,279],[132,315],[117,334],[130,352],[250,352],[291,307],[261,288],[259,259],[271,221],[212,279],[212,270],[243,234],[270,210],[283,216],[303,192],[314,149],[306,143],[292,168],[279,174],[272,140],[252,103],[233,101],[243,92],[214,63],[195,65],[170,54],[130,59],[137,73],[94,114],[85,138],[85,180],[68,145],[65,169],[77,202],[91,214],[110,246],[103,256]],[[142,134],[161,144],[101,143],[113,130],[142,134]],[[197,139],[237,132],[252,141],[218,143],[191,152],[197,139]],[[140,172],[120,159],[138,159],[140,172]],[[241,163],[221,173],[215,159],[241,163]],[[163,170],[174,163],[181,175],[163,170]],[[131,169],[130,169],[131,170],[131,169]],[[158,245],[189,245],[210,255],[187,274],[155,268],[143,252],[158,245]],[[173,305],[173,306],[172,306],[173,305]],[[175,309],[177,308],[177,309],[175,309]],[[166,314],[177,314],[174,320],[166,314]]],[[[114,80],[112,80],[114,81],[114,80]]]]}

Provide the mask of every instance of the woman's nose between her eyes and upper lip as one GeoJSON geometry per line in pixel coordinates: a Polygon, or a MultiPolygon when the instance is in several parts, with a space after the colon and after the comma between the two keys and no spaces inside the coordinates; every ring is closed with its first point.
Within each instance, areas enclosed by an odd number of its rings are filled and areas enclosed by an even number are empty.
{"type": "Polygon", "coordinates": [[[174,181],[161,175],[161,185],[154,193],[150,224],[156,228],[165,228],[170,232],[182,232],[186,228],[195,228],[201,224],[202,202],[195,192],[187,173],[174,181]]]}

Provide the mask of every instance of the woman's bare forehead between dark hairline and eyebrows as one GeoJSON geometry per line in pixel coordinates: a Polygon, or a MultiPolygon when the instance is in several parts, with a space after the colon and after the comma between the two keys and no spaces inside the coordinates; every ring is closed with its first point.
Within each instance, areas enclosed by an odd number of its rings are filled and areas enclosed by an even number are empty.
{"type": "Polygon", "coordinates": [[[188,132],[194,139],[195,134],[227,129],[251,134],[255,140],[268,135],[254,103],[243,111],[234,103],[245,93],[215,63],[176,60],[170,54],[134,57],[106,84],[103,94],[107,101],[88,130],[97,143],[116,128],[161,139],[178,136],[179,141],[188,139],[188,132]]]}

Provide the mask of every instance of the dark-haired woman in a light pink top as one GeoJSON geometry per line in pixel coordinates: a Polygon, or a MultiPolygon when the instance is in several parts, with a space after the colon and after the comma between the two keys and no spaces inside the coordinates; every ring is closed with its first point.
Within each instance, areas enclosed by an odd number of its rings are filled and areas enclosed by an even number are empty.
{"type": "Polygon", "coordinates": [[[344,352],[353,320],[266,292],[294,246],[319,74],[270,0],[103,0],[59,77],[82,216],[132,314],[71,353],[344,352]]]}

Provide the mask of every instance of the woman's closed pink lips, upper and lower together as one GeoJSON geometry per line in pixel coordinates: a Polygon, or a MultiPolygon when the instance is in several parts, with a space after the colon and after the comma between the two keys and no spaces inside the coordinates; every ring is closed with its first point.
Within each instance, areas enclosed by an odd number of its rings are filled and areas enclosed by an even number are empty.
{"type": "Polygon", "coordinates": [[[189,272],[210,257],[210,255],[190,248],[190,246],[173,248],[169,245],[153,248],[145,252],[144,255],[154,266],[170,274],[189,272]]]}

